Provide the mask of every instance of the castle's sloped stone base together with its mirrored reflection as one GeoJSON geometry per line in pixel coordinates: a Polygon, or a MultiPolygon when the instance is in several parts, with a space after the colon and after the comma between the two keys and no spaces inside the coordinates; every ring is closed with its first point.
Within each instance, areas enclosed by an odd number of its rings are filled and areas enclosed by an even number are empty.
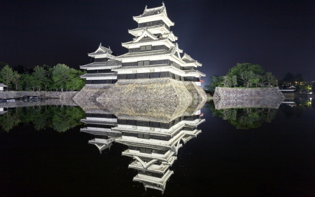
{"type": "Polygon", "coordinates": [[[207,95],[193,82],[174,79],[119,80],[107,86],[86,85],[73,100],[85,111],[111,111],[120,118],[167,121],[190,116],[207,101],[207,95]]]}

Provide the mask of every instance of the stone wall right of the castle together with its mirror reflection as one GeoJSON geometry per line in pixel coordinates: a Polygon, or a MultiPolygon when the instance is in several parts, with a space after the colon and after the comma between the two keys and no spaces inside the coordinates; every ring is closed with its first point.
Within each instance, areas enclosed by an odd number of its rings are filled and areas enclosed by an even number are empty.
{"type": "Polygon", "coordinates": [[[216,109],[264,107],[278,109],[285,99],[279,88],[221,88],[214,92],[216,109]]]}

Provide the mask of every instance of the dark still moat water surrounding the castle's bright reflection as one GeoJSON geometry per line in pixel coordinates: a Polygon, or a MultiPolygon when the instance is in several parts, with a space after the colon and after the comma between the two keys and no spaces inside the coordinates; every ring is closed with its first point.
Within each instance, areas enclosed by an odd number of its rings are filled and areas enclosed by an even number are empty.
{"type": "Polygon", "coordinates": [[[314,103],[205,104],[197,113],[202,133],[181,142],[164,193],[133,181],[134,159],[122,156],[127,145],[114,142],[100,154],[87,143],[95,136],[80,132],[87,127],[80,107],[4,108],[0,196],[315,196],[314,103]]]}

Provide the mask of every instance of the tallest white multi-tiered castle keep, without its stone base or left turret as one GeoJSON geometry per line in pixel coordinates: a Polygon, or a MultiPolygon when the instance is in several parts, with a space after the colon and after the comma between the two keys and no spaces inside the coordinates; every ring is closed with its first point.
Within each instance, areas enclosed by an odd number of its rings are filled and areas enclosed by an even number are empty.
{"type": "Polygon", "coordinates": [[[178,81],[193,81],[200,85],[202,72],[197,67],[202,64],[193,60],[176,43],[177,37],[171,31],[174,22],[167,17],[165,5],[158,8],[145,8],[142,15],[133,18],[138,28],[128,32],[133,41],[122,43],[129,53],[120,55],[117,60],[122,66],[113,69],[119,79],[171,78],[178,81]]]}

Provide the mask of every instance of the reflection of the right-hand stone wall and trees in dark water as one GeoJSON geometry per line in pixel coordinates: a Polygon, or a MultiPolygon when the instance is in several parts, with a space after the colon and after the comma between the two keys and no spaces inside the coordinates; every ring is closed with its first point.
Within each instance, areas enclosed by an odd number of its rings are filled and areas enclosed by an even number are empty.
{"type": "Polygon", "coordinates": [[[295,100],[216,100],[206,104],[213,116],[228,120],[237,129],[258,128],[263,123],[270,123],[279,110],[287,118],[301,117],[307,108],[314,109],[311,99],[295,100]]]}

